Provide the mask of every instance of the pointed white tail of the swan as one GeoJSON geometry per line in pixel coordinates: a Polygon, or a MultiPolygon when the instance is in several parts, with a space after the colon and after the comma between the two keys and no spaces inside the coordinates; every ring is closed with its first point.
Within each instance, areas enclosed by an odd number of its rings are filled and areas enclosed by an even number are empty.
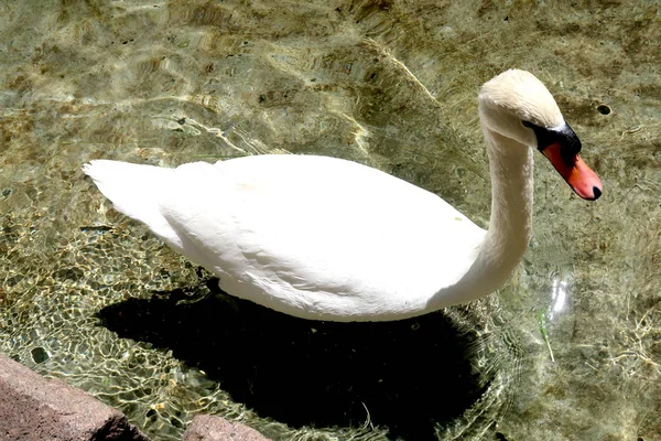
{"type": "Polygon", "coordinates": [[[83,165],[115,209],[145,224],[166,243],[181,246],[180,238],[161,213],[160,190],[174,175],[174,169],[94,160],[83,165]]]}

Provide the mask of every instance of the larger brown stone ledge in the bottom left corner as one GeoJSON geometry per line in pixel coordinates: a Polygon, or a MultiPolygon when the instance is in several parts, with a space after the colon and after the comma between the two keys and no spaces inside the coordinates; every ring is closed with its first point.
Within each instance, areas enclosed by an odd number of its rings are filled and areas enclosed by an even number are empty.
{"type": "Polygon", "coordinates": [[[0,354],[0,440],[149,441],[119,411],[0,354]]]}

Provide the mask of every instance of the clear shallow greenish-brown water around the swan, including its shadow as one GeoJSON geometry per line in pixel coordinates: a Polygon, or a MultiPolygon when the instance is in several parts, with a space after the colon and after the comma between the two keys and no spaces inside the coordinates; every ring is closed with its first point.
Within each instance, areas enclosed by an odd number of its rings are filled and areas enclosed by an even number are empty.
{"type": "Polygon", "coordinates": [[[661,439],[661,3],[0,2],[0,351],[159,440],[197,412],[277,440],[661,439]],[[480,225],[476,93],[533,72],[602,176],[541,158],[498,294],[333,324],[215,292],[80,165],[351,159],[480,225]]]}

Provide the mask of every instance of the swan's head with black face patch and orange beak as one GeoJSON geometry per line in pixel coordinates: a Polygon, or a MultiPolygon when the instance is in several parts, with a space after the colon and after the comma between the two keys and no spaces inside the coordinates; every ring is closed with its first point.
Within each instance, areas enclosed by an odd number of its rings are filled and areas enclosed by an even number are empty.
{"type": "Polygon", "coordinates": [[[485,136],[497,133],[538,149],[578,196],[594,201],[602,195],[602,181],[578,154],[578,137],[534,75],[506,71],[483,85],[478,99],[485,136]]]}

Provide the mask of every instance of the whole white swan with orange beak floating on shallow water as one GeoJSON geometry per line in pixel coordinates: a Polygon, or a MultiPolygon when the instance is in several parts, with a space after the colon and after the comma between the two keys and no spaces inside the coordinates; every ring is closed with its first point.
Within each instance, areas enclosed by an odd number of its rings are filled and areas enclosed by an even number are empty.
{"type": "Polygon", "coordinates": [[[435,194],[333,158],[176,169],[96,160],[83,170],[116,209],[218,276],[228,293],[304,319],[398,320],[507,281],[531,235],[533,149],[581,197],[602,194],[532,74],[512,69],[486,83],[479,116],[491,171],[487,232],[435,194]]]}

